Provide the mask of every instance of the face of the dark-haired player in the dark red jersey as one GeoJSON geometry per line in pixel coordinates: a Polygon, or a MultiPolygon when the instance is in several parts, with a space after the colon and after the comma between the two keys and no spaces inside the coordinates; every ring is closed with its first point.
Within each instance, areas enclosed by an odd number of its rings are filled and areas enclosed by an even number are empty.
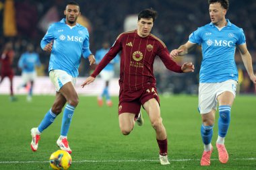
{"type": "Polygon", "coordinates": [[[141,18],[137,22],[137,33],[141,37],[150,35],[153,27],[153,18],[141,18]]]}

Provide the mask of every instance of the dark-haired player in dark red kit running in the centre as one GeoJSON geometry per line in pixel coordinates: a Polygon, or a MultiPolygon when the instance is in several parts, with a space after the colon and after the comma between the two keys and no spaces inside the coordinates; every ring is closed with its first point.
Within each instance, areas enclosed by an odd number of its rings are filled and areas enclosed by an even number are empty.
{"type": "Polygon", "coordinates": [[[160,116],[160,100],[156,90],[153,64],[159,56],[167,69],[177,73],[193,72],[192,63],[177,65],[169,55],[164,43],[150,34],[157,12],[144,9],[138,15],[137,30],[120,34],[112,48],[106,53],[94,73],[84,81],[82,87],[92,83],[102,69],[121,51],[119,79],[119,126],[128,135],[137,118],[141,119],[141,105],[148,113],[156,130],[156,140],[160,148],[160,163],[170,164],[167,158],[167,135],[160,116]]]}

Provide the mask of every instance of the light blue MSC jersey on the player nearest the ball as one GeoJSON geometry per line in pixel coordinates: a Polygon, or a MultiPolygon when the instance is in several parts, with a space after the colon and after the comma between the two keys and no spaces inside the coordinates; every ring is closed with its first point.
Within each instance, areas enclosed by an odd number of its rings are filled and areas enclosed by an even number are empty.
{"type": "Polygon", "coordinates": [[[66,19],[52,24],[41,41],[41,48],[53,41],[53,49],[49,62],[49,71],[66,71],[72,77],[78,76],[81,56],[87,58],[90,51],[89,32],[87,28],[76,24],[68,26],[66,19]]]}

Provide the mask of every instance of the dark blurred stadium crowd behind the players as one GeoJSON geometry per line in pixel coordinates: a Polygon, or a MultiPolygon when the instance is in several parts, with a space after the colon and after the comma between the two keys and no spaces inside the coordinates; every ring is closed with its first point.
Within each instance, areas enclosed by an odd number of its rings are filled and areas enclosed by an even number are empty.
{"type": "MultiPolygon", "coordinates": [[[[18,60],[21,54],[26,51],[28,44],[33,44],[42,62],[42,67],[38,69],[38,76],[48,76],[49,54],[41,50],[40,40],[51,23],[58,22],[65,17],[63,11],[67,2],[69,1],[0,0],[0,51],[2,52],[7,42],[12,42],[15,52],[13,62],[15,75],[21,74],[18,69],[18,60]]],[[[117,36],[126,31],[125,19],[137,15],[145,8],[152,7],[158,11],[158,18],[154,22],[152,34],[160,38],[168,50],[178,48],[179,45],[187,42],[191,32],[210,22],[209,5],[206,0],[77,0],[77,3],[80,5],[82,13],[78,22],[88,28],[90,49],[94,53],[102,47],[103,42],[108,41],[113,44],[117,36]]],[[[226,15],[230,22],[245,31],[254,69],[256,69],[255,9],[256,1],[230,0],[230,9],[226,15]]],[[[177,60],[177,62],[193,61],[195,72],[190,74],[172,73],[163,67],[160,59],[156,59],[154,69],[160,93],[197,93],[201,63],[200,50],[197,48],[188,56],[177,60]]],[[[238,52],[236,52],[235,58],[240,73],[239,91],[255,93],[238,52]]],[[[79,76],[87,77],[94,67],[89,67],[87,60],[82,60],[79,76]]],[[[116,77],[119,77],[119,66],[117,66],[116,73],[116,77]]]]}

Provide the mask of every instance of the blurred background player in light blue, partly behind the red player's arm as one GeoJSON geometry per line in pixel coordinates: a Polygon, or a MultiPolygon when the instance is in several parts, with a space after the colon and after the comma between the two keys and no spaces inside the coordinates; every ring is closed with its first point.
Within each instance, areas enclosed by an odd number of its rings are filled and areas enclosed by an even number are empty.
{"type": "MultiPolygon", "coordinates": [[[[100,61],[105,56],[106,52],[108,52],[108,50],[109,50],[109,44],[108,42],[104,42],[102,44],[102,48],[100,48],[100,50],[97,50],[95,53],[96,64],[100,63],[100,61]]],[[[116,56],[100,72],[100,77],[105,81],[104,89],[102,93],[98,96],[98,105],[100,106],[103,105],[103,99],[102,99],[103,97],[106,97],[106,105],[108,105],[109,107],[113,105],[108,92],[108,85],[109,85],[109,81],[113,79],[115,75],[115,64],[117,64],[118,62],[119,62],[119,56],[116,56]]]]}

